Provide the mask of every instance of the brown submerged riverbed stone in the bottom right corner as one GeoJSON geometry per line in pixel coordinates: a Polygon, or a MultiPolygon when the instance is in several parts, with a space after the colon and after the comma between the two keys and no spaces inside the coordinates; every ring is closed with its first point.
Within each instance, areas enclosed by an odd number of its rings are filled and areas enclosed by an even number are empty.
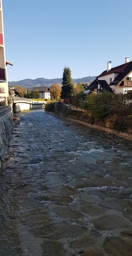
{"type": "Polygon", "coordinates": [[[120,237],[107,238],[104,241],[104,249],[113,256],[132,256],[132,241],[120,237]]]}

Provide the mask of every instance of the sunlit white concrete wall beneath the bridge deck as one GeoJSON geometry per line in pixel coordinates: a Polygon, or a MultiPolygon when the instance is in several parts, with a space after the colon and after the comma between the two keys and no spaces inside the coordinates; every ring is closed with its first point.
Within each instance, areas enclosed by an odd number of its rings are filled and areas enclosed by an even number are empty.
{"type": "Polygon", "coordinates": [[[25,110],[31,110],[36,108],[42,108],[43,104],[31,104],[31,103],[13,103],[13,110],[15,113],[25,111],[25,110]]]}

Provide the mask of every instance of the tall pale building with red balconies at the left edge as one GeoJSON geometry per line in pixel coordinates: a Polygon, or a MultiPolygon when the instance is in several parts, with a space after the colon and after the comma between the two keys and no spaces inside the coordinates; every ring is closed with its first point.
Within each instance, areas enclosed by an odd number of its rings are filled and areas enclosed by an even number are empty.
{"type": "Polygon", "coordinates": [[[0,0],[0,101],[5,101],[5,105],[8,105],[7,97],[9,96],[7,65],[12,66],[12,64],[10,62],[6,62],[5,59],[2,0],[0,0]]]}

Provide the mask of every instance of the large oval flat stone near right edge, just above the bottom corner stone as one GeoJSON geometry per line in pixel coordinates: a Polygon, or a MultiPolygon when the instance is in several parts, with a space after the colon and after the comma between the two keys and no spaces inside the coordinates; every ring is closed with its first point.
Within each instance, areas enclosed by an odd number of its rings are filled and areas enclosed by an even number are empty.
{"type": "Polygon", "coordinates": [[[117,215],[105,215],[103,217],[93,219],[92,223],[99,230],[127,228],[131,226],[131,222],[129,220],[117,215]]]}

